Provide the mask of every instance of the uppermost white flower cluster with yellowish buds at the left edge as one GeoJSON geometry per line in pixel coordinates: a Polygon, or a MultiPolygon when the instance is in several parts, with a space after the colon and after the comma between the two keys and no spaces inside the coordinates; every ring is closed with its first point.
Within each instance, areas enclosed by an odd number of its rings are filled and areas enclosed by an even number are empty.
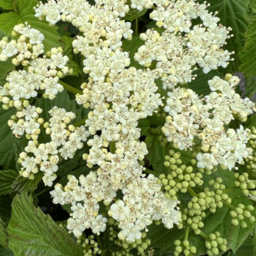
{"type": "Polygon", "coordinates": [[[17,40],[9,41],[4,37],[0,41],[1,62],[15,56],[14,65],[22,63],[23,66],[27,66],[29,59],[43,54],[44,36],[37,29],[31,28],[28,24],[18,24],[13,28],[12,36],[17,40]]]}

